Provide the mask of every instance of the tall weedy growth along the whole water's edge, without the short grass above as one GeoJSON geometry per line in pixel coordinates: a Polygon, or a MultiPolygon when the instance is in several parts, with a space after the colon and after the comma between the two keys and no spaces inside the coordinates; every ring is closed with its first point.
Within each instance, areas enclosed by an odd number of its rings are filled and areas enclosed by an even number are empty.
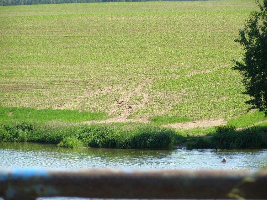
{"type": "MultiPolygon", "coordinates": [[[[63,122],[5,121],[0,123],[0,142],[41,142],[62,147],[164,149],[186,143],[188,149],[239,149],[267,147],[267,123],[237,131],[234,127],[209,128],[200,136],[153,124],[73,124],[63,122]],[[209,137],[203,137],[203,135],[209,137]]],[[[193,130],[193,129],[192,129],[193,130]]]]}

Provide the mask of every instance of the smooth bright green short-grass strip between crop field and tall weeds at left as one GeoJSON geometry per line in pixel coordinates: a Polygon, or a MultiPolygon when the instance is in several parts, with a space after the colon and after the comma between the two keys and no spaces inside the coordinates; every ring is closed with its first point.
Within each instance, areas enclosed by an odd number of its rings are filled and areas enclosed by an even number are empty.
{"type": "Polygon", "coordinates": [[[110,118],[106,113],[84,112],[77,110],[52,110],[36,108],[3,108],[0,106],[0,122],[10,120],[33,120],[39,122],[62,121],[83,122],[110,118]]]}

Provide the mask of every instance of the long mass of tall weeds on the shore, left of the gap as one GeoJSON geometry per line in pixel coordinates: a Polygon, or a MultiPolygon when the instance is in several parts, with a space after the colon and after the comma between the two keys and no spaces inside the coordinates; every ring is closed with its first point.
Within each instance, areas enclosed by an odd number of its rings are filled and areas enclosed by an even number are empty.
{"type": "Polygon", "coordinates": [[[77,125],[60,122],[5,122],[0,124],[0,142],[42,142],[63,147],[170,148],[174,129],[150,124],[112,123],[77,125]]]}

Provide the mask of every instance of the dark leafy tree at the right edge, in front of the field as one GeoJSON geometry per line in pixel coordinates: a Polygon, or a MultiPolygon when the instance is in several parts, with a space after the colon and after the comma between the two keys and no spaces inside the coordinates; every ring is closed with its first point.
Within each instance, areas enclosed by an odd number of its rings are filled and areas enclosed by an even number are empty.
{"type": "Polygon", "coordinates": [[[256,0],[260,11],[254,11],[246,21],[244,29],[239,30],[239,42],[244,46],[243,61],[233,60],[234,70],[242,74],[245,92],[251,97],[245,102],[249,109],[264,111],[267,116],[267,0],[263,5],[256,0]]]}

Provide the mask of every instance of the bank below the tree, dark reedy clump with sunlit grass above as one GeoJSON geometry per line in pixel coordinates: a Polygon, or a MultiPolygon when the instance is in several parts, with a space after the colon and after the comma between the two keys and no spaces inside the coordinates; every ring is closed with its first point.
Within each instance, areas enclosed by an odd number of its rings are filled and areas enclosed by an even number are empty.
{"type": "Polygon", "coordinates": [[[267,122],[263,112],[226,119],[227,124],[179,131],[188,149],[246,149],[267,147],[267,122]],[[264,122],[265,121],[265,122],[264,122]]]}

